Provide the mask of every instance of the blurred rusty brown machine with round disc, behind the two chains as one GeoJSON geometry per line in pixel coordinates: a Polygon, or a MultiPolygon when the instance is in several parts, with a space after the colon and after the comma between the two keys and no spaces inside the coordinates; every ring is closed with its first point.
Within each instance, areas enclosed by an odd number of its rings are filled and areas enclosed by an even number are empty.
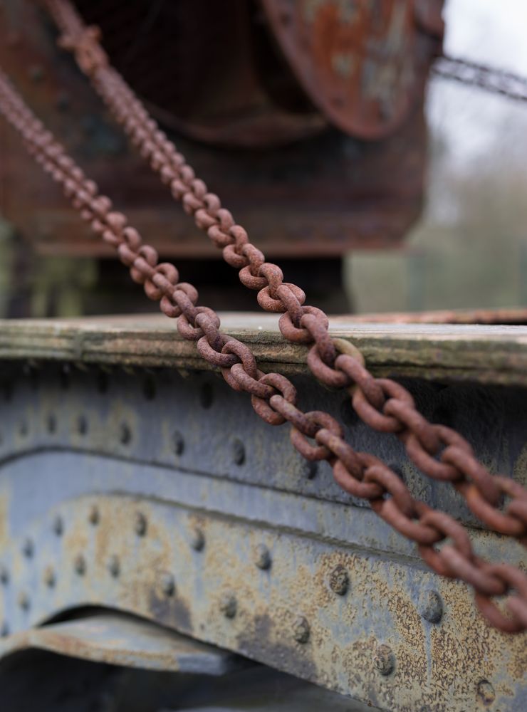
{"type": "MultiPolygon", "coordinates": [[[[333,311],[347,309],[340,256],[354,247],[398,246],[419,215],[424,84],[441,51],[441,7],[441,0],[78,3],[86,21],[100,26],[115,67],[163,127],[177,132],[179,150],[212,187],[221,186],[261,249],[283,258],[291,278],[310,281],[318,303],[333,311]]],[[[57,51],[54,33],[38,3],[4,0],[0,65],[205,297],[220,308],[252,308],[214,248],[196,239],[127,149],[100,100],[57,51]]],[[[93,295],[85,307],[91,312],[144,309],[105,259],[108,248],[79,230],[53,187],[33,178],[24,150],[5,142],[3,156],[2,211],[28,248],[98,258],[105,299],[93,295]],[[16,189],[22,183],[24,194],[16,189]]],[[[27,249],[22,257],[29,261],[27,249]]],[[[28,315],[28,300],[11,313],[28,315]]]]}

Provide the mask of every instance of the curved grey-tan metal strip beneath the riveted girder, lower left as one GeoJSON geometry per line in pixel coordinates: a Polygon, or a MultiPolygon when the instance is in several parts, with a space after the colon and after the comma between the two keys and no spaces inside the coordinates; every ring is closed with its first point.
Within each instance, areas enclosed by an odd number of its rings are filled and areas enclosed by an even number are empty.
{"type": "MultiPolygon", "coordinates": [[[[74,562],[78,575],[85,574],[85,565],[79,555],[74,562]]],[[[53,565],[43,572],[43,577],[49,587],[60,585],[53,565]]],[[[0,658],[28,649],[109,665],[187,674],[224,675],[236,668],[234,656],[226,651],[151,622],[109,612],[29,628],[0,640],[0,658]]]]}

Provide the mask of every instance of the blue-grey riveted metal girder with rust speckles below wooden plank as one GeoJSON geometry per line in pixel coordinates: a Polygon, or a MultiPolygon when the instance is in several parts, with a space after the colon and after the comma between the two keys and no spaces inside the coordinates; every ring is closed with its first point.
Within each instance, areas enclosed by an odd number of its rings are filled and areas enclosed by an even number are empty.
{"type": "MultiPolygon", "coordinates": [[[[491,709],[526,704],[525,636],[489,629],[464,585],[424,570],[407,540],[338,490],[327,465],[306,468],[286,434],[223,382],[157,370],[108,382],[53,364],[29,374],[6,364],[4,379],[4,632],[98,605],[390,712],[476,710],[481,686],[491,709]],[[224,441],[226,431],[236,439],[224,441]]],[[[523,392],[409,386],[423,389],[425,412],[457,419],[479,456],[524,481],[523,392]]],[[[303,389],[320,402],[320,387],[303,389]]],[[[342,407],[338,394],[325,399],[329,412],[342,407]]],[[[349,428],[412,492],[470,521],[449,489],[422,481],[397,439],[381,441],[353,417],[349,428]]],[[[497,535],[471,528],[471,539],[481,555],[525,562],[497,535]]]]}

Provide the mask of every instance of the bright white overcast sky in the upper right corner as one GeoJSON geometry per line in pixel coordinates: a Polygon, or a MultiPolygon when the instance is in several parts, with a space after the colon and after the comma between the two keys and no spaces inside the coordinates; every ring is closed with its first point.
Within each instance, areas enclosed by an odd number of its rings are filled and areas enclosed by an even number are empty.
{"type": "MultiPolygon", "coordinates": [[[[527,76],[527,0],[447,0],[444,16],[445,53],[527,76]]],[[[527,130],[526,103],[439,79],[427,108],[432,129],[442,132],[459,164],[481,157],[496,140],[512,145],[527,130]]]]}

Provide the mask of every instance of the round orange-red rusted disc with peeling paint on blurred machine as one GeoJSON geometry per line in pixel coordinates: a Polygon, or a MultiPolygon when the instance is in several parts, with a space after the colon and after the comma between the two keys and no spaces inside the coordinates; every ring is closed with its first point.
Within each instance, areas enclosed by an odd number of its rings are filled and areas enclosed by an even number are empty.
{"type": "Polygon", "coordinates": [[[422,46],[414,0],[262,2],[303,88],[326,117],[363,139],[385,137],[400,125],[422,93],[432,50],[422,46]]]}

